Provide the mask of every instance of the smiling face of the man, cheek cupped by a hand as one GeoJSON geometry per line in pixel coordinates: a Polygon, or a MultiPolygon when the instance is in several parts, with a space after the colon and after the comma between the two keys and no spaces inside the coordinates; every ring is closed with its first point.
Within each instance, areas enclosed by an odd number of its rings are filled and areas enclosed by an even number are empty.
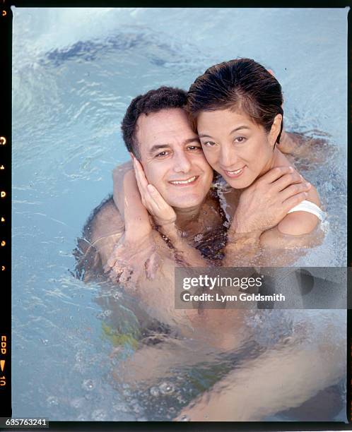
{"type": "Polygon", "coordinates": [[[200,205],[211,186],[213,169],[184,110],[141,114],[136,138],[146,178],[165,201],[180,209],[200,205]]]}

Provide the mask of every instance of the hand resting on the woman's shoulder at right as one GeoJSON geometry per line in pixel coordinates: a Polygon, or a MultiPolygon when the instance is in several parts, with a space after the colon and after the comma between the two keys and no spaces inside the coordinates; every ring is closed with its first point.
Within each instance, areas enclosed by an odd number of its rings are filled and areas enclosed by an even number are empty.
{"type": "Polygon", "coordinates": [[[264,174],[240,196],[229,229],[231,235],[257,233],[275,227],[291,208],[307,198],[311,185],[293,167],[276,167],[264,174]]]}

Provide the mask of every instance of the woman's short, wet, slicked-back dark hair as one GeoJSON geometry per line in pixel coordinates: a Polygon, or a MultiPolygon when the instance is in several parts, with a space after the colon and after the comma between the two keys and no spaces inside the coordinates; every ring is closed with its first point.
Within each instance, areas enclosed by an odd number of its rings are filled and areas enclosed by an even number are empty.
{"type": "MultiPolygon", "coordinates": [[[[185,109],[195,126],[201,111],[231,109],[245,112],[269,132],[277,114],[283,116],[281,85],[252,59],[224,61],[207,69],[189,88],[185,109]]],[[[283,128],[276,139],[280,142],[283,128]]]]}

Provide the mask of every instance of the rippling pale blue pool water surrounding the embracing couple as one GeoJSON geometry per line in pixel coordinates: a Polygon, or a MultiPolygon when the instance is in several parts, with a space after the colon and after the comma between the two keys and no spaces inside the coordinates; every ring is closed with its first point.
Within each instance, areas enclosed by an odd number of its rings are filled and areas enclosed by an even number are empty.
{"type": "MultiPolygon", "coordinates": [[[[334,148],[326,163],[305,169],[329,227],[304,263],[346,265],[347,13],[13,8],[13,416],[169,419],[221,378],[211,351],[203,366],[178,364],[137,388],[117,379],[150,318],[117,289],[70,272],[83,224],[112,191],[113,167],[128,159],[119,124],[137,94],[187,89],[211,64],[237,56],[273,69],[286,128],[334,148]]],[[[258,343],[245,344],[240,359],[257,355],[258,343]]],[[[192,344],[186,352],[188,364],[199,361],[192,344]]],[[[233,358],[220,360],[235,367],[233,358]]]]}

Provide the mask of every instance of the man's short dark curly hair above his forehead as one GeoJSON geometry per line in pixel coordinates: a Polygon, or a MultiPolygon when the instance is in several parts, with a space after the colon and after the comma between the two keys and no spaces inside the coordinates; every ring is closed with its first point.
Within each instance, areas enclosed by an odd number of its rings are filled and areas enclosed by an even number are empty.
{"type": "Polygon", "coordinates": [[[162,109],[183,108],[186,104],[187,92],[180,88],[160,87],[149,90],[145,95],[139,95],[132,100],[122,120],[122,134],[127,150],[137,158],[141,158],[139,143],[136,138],[137,120],[141,114],[159,112],[162,109]]]}

